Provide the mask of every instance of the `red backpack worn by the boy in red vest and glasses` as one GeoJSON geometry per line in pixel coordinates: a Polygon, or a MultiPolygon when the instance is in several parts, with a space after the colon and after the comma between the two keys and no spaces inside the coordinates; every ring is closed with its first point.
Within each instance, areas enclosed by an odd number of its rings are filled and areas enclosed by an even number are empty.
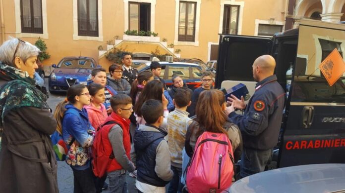
{"type": "Polygon", "coordinates": [[[117,124],[118,126],[120,126],[120,124],[112,120],[100,125],[97,128],[95,140],[91,147],[92,157],[93,157],[92,171],[95,174],[95,176],[99,178],[102,178],[105,175],[110,161],[114,159],[113,152],[112,154],[106,154],[105,149],[104,149],[103,139],[102,139],[102,136],[108,137],[109,130],[111,129],[109,128],[108,130],[106,130],[106,129],[103,129],[102,127],[104,125],[109,125],[109,124],[117,124]]]}

